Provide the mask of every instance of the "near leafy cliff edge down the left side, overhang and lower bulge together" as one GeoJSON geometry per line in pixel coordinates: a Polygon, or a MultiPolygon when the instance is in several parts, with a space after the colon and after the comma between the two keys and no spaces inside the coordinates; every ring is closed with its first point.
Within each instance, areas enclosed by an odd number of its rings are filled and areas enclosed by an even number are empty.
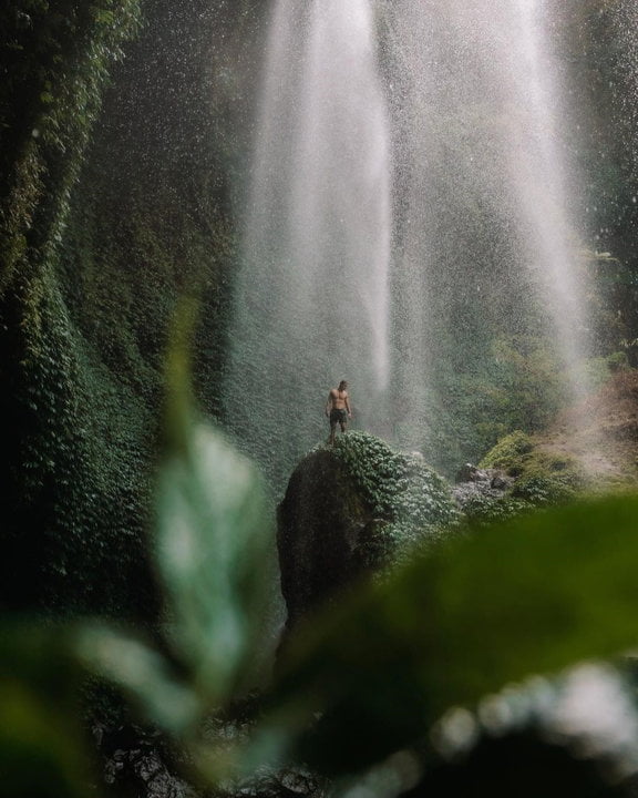
{"type": "Polygon", "coordinates": [[[138,24],[133,0],[1,11],[0,473],[12,553],[1,602],[22,611],[153,614],[141,540],[148,421],[79,334],[59,272],[109,71],[138,24]],[[127,552],[123,570],[112,543],[127,552]],[[144,610],[133,608],[127,576],[144,610]]]}

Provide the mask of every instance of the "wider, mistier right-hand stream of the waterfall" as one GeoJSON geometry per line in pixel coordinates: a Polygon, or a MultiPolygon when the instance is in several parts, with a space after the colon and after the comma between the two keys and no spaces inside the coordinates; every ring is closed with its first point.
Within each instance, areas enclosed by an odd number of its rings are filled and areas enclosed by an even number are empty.
{"type": "Polygon", "coordinates": [[[451,381],[441,372],[461,375],[465,382],[453,387],[471,393],[490,340],[543,336],[562,364],[566,398],[583,388],[586,318],[559,70],[542,0],[382,4],[395,186],[392,383],[402,399],[395,437],[435,459],[432,418],[451,381]]]}

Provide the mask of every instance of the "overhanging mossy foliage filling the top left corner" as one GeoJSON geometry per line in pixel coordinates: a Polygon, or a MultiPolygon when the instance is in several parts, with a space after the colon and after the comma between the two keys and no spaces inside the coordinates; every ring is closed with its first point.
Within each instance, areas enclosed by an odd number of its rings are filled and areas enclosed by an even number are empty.
{"type": "Polygon", "coordinates": [[[137,0],[0,11],[0,290],[60,243],[109,70],[138,19],[137,0]]]}

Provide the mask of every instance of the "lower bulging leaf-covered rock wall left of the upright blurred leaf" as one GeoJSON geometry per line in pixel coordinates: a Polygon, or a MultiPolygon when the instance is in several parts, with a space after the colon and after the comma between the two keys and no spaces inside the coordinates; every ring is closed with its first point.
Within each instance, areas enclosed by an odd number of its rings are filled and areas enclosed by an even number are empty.
{"type": "Polygon", "coordinates": [[[153,417],[79,334],[53,270],[21,285],[12,308],[11,334],[0,336],[2,529],[12,541],[2,602],[150,618],[153,417]]]}

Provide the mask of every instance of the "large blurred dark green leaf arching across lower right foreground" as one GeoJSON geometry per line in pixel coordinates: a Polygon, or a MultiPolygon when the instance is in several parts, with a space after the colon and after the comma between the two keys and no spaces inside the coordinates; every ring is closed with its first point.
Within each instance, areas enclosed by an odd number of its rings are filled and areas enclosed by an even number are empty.
{"type": "Polygon", "coordinates": [[[617,655],[638,641],[637,573],[632,498],[521,518],[423,555],[309,620],[288,645],[251,755],[270,744],[272,756],[276,741],[279,755],[295,748],[351,773],[413,743],[451,706],[617,655]]]}

